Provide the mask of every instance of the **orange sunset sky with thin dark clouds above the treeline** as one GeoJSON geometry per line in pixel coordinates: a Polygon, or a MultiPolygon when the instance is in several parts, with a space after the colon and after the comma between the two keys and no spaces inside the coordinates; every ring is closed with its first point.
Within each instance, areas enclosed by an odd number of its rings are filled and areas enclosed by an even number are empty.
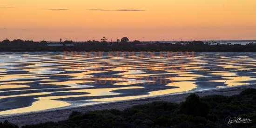
{"type": "Polygon", "coordinates": [[[0,40],[255,40],[255,5],[256,0],[1,0],[0,40]]]}

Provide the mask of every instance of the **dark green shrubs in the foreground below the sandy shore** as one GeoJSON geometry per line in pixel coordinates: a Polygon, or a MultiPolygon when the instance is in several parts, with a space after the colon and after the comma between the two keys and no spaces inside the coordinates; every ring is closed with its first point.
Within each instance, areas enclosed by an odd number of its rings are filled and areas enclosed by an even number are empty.
{"type": "MultiPolygon", "coordinates": [[[[0,128],[16,128],[5,121],[0,128]]],[[[136,105],[123,111],[72,112],[69,119],[27,125],[22,128],[256,128],[256,89],[239,95],[210,95],[200,98],[191,94],[186,101],[175,104],[157,101],[136,105]],[[229,119],[249,119],[249,123],[231,123],[229,119]],[[226,121],[225,121],[226,120],[226,121]]]]}

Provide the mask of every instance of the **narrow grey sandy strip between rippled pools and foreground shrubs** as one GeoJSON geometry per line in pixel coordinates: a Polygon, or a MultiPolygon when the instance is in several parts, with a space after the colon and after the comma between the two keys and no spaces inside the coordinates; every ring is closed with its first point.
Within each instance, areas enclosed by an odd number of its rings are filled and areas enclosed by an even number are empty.
{"type": "MultiPolygon", "coordinates": [[[[198,91],[193,93],[198,94],[200,97],[203,97],[206,95],[213,95],[213,94],[230,96],[234,94],[239,94],[246,88],[256,88],[256,85],[247,85],[247,86],[230,87],[230,88],[218,88],[218,89],[204,90],[204,91],[198,91]]],[[[170,101],[170,102],[180,103],[184,101],[189,94],[191,94],[191,92],[186,92],[182,94],[162,95],[158,97],[149,97],[149,98],[137,99],[137,100],[103,103],[103,104],[96,104],[96,105],[77,107],[77,108],[29,113],[29,114],[23,114],[23,115],[7,115],[7,116],[1,116],[0,121],[8,120],[12,123],[18,124],[19,126],[24,126],[27,124],[37,124],[40,122],[47,122],[47,121],[62,121],[67,119],[72,111],[86,112],[88,110],[101,110],[101,109],[114,109],[114,108],[125,109],[138,104],[150,103],[152,101],[170,101]]]]}

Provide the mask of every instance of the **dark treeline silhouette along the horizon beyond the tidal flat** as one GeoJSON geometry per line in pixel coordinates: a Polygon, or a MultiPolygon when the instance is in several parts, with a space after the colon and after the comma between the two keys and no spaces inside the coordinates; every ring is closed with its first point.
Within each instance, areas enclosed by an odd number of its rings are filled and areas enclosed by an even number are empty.
{"type": "Polygon", "coordinates": [[[101,41],[88,40],[86,42],[35,42],[33,40],[13,40],[8,39],[0,42],[0,52],[19,51],[195,51],[195,52],[256,52],[256,43],[241,44],[221,44],[204,43],[203,41],[181,41],[173,43],[167,42],[141,42],[139,40],[129,41],[127,37],[117,39],[115,42],[107,42],[103,37],[101,41]],[[51,46],[50,44],[63,44],[51,46]],[[67,45],[73,44],[73,45],[67,45]]]}

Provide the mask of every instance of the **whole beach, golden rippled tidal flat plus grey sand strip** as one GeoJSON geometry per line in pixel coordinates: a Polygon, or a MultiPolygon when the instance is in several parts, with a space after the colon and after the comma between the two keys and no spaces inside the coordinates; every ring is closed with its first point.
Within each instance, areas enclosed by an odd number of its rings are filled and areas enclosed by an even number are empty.
{"type": "Polygon", "coordinates": [[[2,53],[0,121],[24,126],[62,121],[72,111],[180,103],[191,93],[230,96],[256,88],[254,53],[184,53],[186,57],[171,58],[161,52],[135,52],[134,59],[106,53],[101,58],[64,59],[62,54],[2,53]]]}

